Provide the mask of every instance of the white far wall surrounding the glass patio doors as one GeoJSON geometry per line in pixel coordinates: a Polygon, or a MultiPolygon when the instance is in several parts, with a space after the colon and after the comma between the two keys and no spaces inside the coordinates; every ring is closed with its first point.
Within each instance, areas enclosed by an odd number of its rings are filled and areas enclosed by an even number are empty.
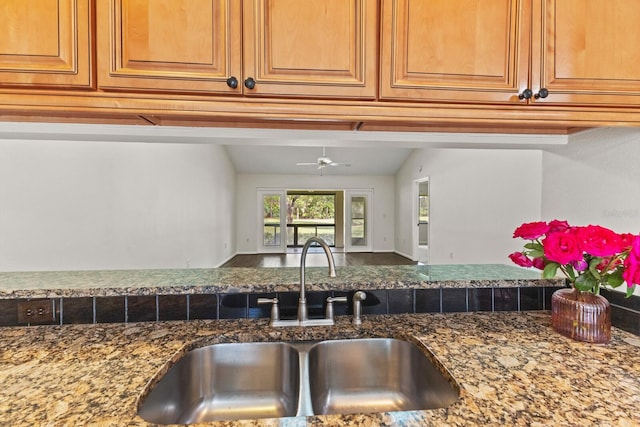
{"type": "Polygon", "coordinates": [[[333,175],[251,175],[237,176],[237,250],[258,250],[258,188],[289,190],[370,189],[372,203],[372,241],[374,252],[392,252],[394,242],[394,177],[333,175]]]}

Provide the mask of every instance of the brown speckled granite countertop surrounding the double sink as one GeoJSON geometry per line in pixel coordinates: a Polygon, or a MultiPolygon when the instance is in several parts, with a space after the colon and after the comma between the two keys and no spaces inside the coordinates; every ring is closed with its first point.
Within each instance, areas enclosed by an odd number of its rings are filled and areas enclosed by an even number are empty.
{"type": "Polygon", "coordinates": [[[217,342],[365,336],[419,341],[461,389],[429,411],[221,422],[218,426],[640,425],[640,339],[606,345],[555,333],[548,312],[365,316],[361,327],[271,328],[266,319],[0,329],[0,420],[11,426],[145,426],[146,384],[191,348],[217,342]]]}

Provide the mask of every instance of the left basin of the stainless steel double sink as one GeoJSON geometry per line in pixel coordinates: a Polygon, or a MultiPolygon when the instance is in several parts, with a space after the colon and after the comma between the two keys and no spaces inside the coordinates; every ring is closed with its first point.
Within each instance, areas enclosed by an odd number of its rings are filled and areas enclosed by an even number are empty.
{"type": "Polygon", "coordinates": [[[299,356],[287,343],[215,344],[188,352],[138,414],[157,424],[296,415],[299,356]]]}

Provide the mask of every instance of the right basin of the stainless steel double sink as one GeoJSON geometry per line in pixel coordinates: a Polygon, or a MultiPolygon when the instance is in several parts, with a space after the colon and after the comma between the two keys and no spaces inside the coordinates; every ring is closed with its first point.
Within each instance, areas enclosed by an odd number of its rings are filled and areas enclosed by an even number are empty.
{"type": "Polygon", "coordinates": [[[309,350],[315,414],[412,411],[449,406],[459,392],[407,341],[324,341],[309,350]]]}

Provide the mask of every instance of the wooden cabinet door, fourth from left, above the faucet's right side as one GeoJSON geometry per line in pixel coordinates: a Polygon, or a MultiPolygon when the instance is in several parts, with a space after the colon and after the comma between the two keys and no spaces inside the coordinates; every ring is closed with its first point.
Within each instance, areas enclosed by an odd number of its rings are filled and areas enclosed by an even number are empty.
{"type": "Polygon", "coordinates": [[[530,12],[525,0],[382,0],[382,98],[524,102],[530,12]]]}

